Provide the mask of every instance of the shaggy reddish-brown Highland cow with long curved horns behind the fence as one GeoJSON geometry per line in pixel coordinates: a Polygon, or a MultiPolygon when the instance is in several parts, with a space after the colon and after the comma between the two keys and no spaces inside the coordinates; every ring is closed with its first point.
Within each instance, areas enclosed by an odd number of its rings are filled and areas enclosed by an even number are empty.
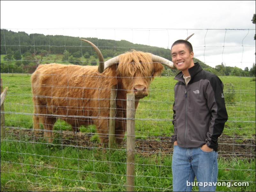
{"type": "Polygon", "coordinates": [[[33,128],[37,132],[42,123],[48,130],[44,136],[52,142],[52,130],[58,118],[71,124],[76,132],[81,125],[94,124],[101,143],[107,144],[110,90],[112,85],[117,85],[115,135],[116,143],[121,144],[126,131],[126,94],[135,94],[137,108],[139,99],[148,95],[151,81],[164,70],[162,64],[174,68],[173,63],[135,50],[104,63],[99,49],[86,42],[96,50],[99,67],[52,63],[39,65],[32,74],[33,128]]]}

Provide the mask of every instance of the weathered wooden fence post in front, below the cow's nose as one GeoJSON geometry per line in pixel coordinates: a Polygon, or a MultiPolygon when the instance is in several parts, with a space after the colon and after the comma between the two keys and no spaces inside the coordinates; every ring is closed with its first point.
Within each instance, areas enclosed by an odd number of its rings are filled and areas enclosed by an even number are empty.
{"type": "Polygon", "coordinates": [[[135,174],[135,94],[127,94],[126,191],[134,191],[135,174]]]}

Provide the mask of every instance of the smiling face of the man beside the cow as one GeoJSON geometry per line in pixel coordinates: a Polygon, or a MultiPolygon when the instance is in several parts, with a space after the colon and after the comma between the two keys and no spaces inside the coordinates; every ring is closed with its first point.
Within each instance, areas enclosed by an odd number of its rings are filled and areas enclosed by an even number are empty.
{"type": "Polygon", "coordinates": [[[188,69],[194,65],[194,53],[190,53],[185,44],[174,45],[171,49],[171,56],[174,66],[177,70],[182,71],[183,74],[188,72],[188,69]]]}

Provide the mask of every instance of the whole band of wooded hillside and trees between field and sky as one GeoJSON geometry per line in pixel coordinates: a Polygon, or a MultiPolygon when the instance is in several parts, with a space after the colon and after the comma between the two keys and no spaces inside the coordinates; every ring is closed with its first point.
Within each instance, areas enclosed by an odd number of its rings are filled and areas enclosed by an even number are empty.
{"type": "MultiPolygon", "coordinates": [[[[0,54],[5,55],[1,59],[1,73],[15,70],[18,73],[34,72],[38,64],[46,61],[49,55],[56,55],[54,60],[80,65],[96,65],[98,57],[91,45],[79,40],[79,37],[64,35],[43,35],[38,33],[27,34],[25,32],[12,32],[1,29],[0,54]],[[90,57],[95,60],[89,60],[90,57]],[[84,58],[84,59],[81,59],[84,58]],[[90,61],[90,62],[89,62],[90,61]]],[[[133,44],[129,41],[105,40],[98,38],[81,38],[94,43],[102,52],[105,59],[123,54],[131,49],[149,52],[154,55],[171,60],[170,49],[152,47],[141,44],[133,44]]],[[[250,70],[238,67],[229,67],[221,63],[212,68],[200,60],[194,58],[194,62],[199,62],[204,70],[216,75],[233,75],[243,77],[255,77],[255,64],[250,70]]],[[[165,68],[163,75],[175,75],[177,70],[165,68]]]]}

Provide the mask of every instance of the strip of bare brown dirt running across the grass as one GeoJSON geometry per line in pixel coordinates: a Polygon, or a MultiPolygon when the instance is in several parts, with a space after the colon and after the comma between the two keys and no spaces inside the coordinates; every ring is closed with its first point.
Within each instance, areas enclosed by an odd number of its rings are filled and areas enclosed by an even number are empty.
{"type": "MultiPolygon", "coordinates": [[[[7,128],[6,136],[12,136],[13,139],[20,141],[46,142],[43,138],[43,132],[34,134],[31,129],[7,128]]],[[[156,153],[168,154],[173,151],[173,144],[170,137],[147,137],[143,139],[135,139],[136,153],[149,156],[156,153]]],[[[245,139],[242,136],[222,135],[218,139],[219,157],[225,158],[243,158],[255,159],[255,135],[252,138],[245,139]]],[[[96,134],[94,133],[74,133],[68,131],[54,132],[54,141],[52,144],[65,146],[77,146],[81,148],[105,148],[98,143],[96,134]]],[[[126,148],[126,140],[119,146],[119,149],[126,148]]]]}

